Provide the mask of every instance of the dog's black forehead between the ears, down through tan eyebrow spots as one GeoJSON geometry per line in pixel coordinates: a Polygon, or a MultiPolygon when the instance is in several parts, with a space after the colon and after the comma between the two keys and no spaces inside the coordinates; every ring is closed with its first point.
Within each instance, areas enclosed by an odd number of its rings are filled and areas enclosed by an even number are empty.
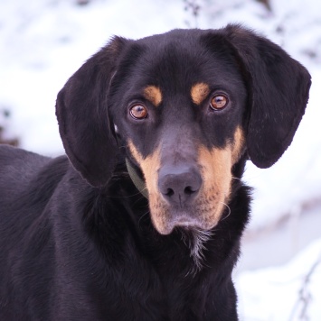
{"type": "MultiPolygon", "coordinates": [[[[196,101],[213,86],[239,83],[241,74],[231,50],[221,44],[208,48],[209,32],[175,30],[132,42],[139,54],[127,56],[132,64],[132,87],[160,101],[160,92],[194,92],[196,101]]],[[[130,52],[130,50],[128,50],[130,52]]],[[[127,65],[128,66],[128,65],[127,65]]]]}

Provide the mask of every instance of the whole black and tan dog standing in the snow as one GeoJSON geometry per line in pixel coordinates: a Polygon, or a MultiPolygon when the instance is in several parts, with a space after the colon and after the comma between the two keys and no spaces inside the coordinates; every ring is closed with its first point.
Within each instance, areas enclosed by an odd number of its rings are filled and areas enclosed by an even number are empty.
{"type": "Polygon", "coordinates": [[[58,95],[68,158],[0,149],[0,319],[236,320],[244,165],[278,161],[309,86],[238,25],[110,41],[58,95]]]}

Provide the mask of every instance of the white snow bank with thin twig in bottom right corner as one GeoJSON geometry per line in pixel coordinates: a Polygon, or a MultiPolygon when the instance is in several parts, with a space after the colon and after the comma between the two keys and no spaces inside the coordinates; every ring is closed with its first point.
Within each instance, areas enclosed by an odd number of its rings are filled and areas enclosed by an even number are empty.
{"type": "Polygon", "coordinates": [[[243,272],[236,282],[241,320],[320,320],[321,239],[278,268],[243,272]]]}

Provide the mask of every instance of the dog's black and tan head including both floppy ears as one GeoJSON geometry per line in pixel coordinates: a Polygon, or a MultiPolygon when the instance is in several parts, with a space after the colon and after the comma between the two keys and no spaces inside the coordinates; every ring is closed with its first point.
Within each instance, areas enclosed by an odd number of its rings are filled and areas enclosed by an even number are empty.
{"type": "Polygon", "coordinates": [[[91,185],[108,182],[118,136],[145,180],[156,230],[210,230],[241,157],[268,168],[288,148],[309,86],[296,60],[240,26],[175,30],[114,38],[63,87],[57,116],[70,161],[91,185]]]}

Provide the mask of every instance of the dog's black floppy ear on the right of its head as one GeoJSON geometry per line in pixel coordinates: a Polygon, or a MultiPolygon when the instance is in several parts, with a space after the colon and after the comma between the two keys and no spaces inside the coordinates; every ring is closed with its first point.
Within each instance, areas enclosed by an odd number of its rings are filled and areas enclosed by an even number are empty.
{"type": "Polygon", "coordinates": [[[305,113],[310,75],[266,38],[239,25],[229,25],[224,32],[240,60],[250,94],[250,160],[265,169],[278,161],[292,142],[305,113]]]}

